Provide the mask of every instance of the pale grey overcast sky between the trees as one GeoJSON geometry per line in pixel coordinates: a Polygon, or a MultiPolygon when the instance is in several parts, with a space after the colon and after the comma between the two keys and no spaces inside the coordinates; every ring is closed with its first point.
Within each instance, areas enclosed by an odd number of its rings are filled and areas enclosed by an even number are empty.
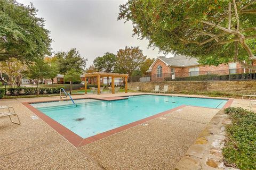
{"type": "MultiPolygon", "coordinates": [[[[38,16],[46,20],[45,27],[51,31],[53,52],[71,48],[79,50],[88,58],[87,66],[106,52],[116,54],[127,46],[140,46],[143,54],[153,58],[161,56],[158,49],[149,48],[147,40],[132,37],[132,23],[117,21],[119,4],[126,1],[46,1],[18,0],[39,10],[38,16]]],[[[167,56],[172,56],[171,54],[167,56]]]]}

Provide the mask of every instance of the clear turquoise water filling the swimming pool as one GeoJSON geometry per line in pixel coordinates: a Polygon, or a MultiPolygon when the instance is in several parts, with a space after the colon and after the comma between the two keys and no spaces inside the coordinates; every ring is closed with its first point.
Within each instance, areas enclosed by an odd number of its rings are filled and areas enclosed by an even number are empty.
{"type": "Polygon", "coordinates": [[[31,105],[80,137],[87,138],[181,105],[222,108],[226,102],[222,99],[141,95],[116,101],[91,100],[77,106],[31,105]]]}

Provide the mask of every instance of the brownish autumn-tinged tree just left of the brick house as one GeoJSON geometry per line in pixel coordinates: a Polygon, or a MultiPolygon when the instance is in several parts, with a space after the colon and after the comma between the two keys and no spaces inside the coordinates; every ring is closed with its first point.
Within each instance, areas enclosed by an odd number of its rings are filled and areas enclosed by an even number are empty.
{"type": "Polygon", "coordinates": [[[115,72],[126,73],[131,77],[132,72],[139,69],[141,64],[145,62],[146,56],[143,55],[139,47],[125,47],[117,52],[117,60],[115,72]]]}

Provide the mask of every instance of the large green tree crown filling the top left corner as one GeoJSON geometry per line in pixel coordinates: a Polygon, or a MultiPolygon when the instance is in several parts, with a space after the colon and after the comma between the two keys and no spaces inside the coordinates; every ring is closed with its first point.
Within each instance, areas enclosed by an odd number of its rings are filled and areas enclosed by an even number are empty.
{"type": "Polygon", "coordinates": [[[1,0],[0,6],[0,61],[18,58],[30,62],[51,54],[50,32],[44,28],[45,20],[36,17],[33,4],[1,0]]]}

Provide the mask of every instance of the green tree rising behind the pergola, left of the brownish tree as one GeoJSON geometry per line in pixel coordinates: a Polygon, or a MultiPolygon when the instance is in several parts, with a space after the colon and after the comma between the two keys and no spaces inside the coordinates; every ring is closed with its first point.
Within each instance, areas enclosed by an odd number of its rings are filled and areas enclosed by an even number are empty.
{"type": "MultiPolygon", "coordinates": [[[[93,61],[95,68],[102,72],[111,73],[114,71],[116,63],[116,55],[113,53],[105,53],[102,57],[97,57],[93,61]]],[[[109,77],[107,77],[107,85],[109,86],[109,77]]]]}

